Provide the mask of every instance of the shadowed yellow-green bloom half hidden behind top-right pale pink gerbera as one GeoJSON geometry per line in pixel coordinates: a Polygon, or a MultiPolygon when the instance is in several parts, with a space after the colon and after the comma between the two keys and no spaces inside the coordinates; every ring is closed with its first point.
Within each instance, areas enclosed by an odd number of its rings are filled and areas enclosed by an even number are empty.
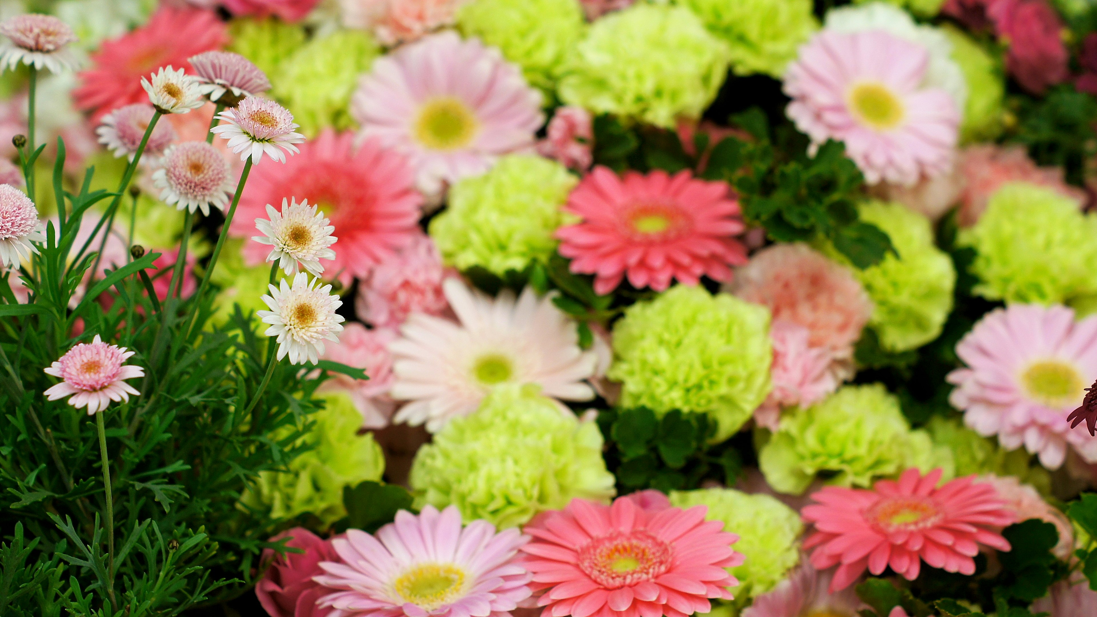
{"type": "Polygon", "coordinates": [[[1006,76],[1002,60],[960,29],[945,24],[941,32],[952,43],[952,59],[968,82],[968,102],[960,124],[963,142],[991,142],[1002,133],[1006,76]]]}

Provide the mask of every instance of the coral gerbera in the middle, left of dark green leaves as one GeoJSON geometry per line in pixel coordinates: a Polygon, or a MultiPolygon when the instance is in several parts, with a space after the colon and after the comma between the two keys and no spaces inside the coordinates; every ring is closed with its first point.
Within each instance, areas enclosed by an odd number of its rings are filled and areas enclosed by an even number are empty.
{"type": "Polygon", "coordinates": [[[734,238],[744,225],[727,183],[694,179],[689,170],[619,178],[598,167],[572,191],[565,210],[583,221],[556,232],[559,254],[573,259],[573,272],[595,274],[598,293],[613,291],[625,276],[633,287],[656,291],[670,279],[726,281],[730,266],[747,260],[734,238]]]}

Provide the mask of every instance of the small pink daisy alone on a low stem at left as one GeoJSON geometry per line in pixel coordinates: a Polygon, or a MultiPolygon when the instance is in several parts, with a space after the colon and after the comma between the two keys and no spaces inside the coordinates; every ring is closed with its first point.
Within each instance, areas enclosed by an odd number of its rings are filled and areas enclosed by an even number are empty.
{"type": "Polygon", "coordinates": [[[50,401],[72,394],[69,405],[88,407],[89,416],[105,410],[111,401],[128,401],[131,394],[140,393],[123,380],[145,377],[145,369],[124,363],[133,355],[125,347],[103,343],[97,334],[94,340],[76,345],[44,369],[65,381],[43,394],[50,401]]]}

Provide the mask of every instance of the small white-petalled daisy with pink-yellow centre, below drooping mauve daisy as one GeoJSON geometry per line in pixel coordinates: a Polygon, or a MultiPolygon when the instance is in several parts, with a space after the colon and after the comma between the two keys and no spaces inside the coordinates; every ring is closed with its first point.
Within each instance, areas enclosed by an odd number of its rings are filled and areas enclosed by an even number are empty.
{"type": "Polygon", "coordinates": [[[297,125],[290,110],[268,99],[248,97],[236,109],[225,110],[217,117],[225,124],[214,126],[212,131],[228,139],[228,147],[234,153],[244,153],[240,160],[251,157],[251,162],[258,164],[265,154],[285,162],[282,150],[296,154],[297,146],[294,144],[305,141],[304,135],[294,133],[297,125]]]}

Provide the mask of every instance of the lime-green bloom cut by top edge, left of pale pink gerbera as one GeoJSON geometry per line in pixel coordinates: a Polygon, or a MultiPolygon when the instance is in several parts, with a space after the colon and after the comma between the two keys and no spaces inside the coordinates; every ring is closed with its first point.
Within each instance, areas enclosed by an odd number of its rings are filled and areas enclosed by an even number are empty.
{"type": "Polygon", "coordinates": [[[675,0],[727,43],[736,75],[780,79],[801,45],[818,30],[812,0],[675,0]]]}

